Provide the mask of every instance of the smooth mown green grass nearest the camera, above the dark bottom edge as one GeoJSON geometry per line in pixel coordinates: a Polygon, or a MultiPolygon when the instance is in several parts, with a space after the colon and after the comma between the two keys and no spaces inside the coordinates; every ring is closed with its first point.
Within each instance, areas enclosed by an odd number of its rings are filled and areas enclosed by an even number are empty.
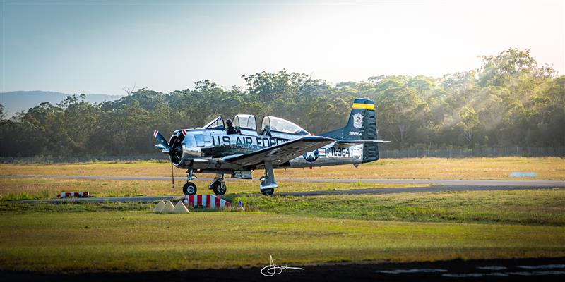
{"type": "Polygon", "coordinates": [[[263,266],[269,255],[299,264],[565,255],[564,227],[259,212],[18,214],[2,216],[0,229],[0,268],[35,271],[263,266]]]}

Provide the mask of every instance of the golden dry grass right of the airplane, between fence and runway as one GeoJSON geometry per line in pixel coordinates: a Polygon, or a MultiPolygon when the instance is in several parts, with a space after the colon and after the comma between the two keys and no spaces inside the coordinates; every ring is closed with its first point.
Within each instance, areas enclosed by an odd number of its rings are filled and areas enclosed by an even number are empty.
{"type": "Polygon", "coordinates": [[[359,168],[328,166],[287,170],[287,178],[408,178],[481,180],[565,180],[565,159],[501,157],[472,159],[383,159],[359,168]],[[510,178],[513,172],[535,172],[535,178],[510,178]]]}

